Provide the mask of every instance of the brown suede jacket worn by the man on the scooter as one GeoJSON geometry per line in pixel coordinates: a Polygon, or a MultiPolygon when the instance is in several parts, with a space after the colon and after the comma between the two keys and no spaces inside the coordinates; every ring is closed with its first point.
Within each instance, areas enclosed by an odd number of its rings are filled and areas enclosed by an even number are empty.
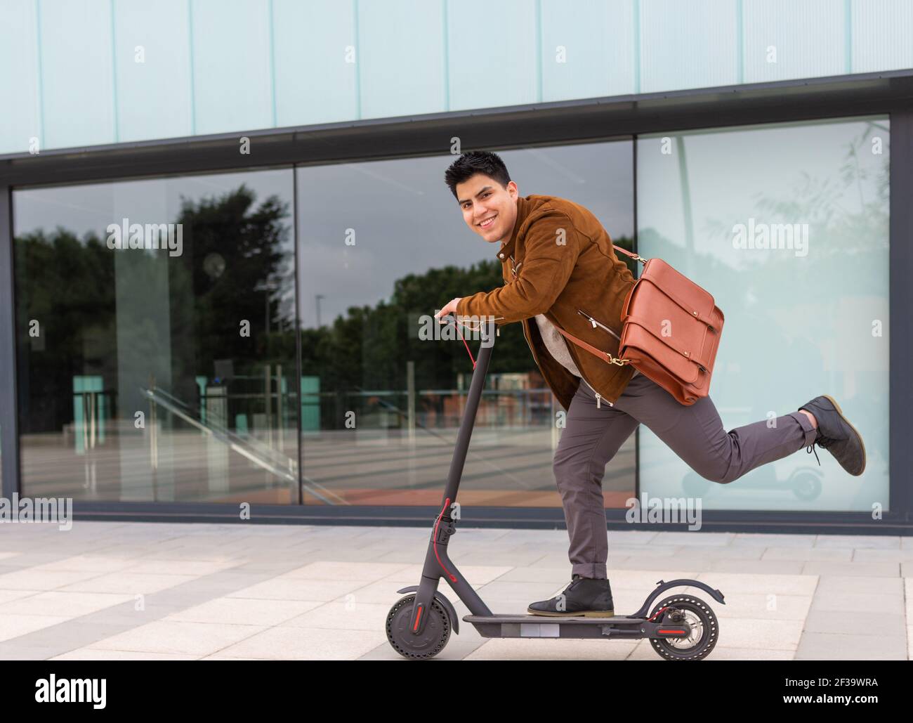
{"type": "MultiPolygon", "coordinates": [[[[518,197],[517,222],[507,242],[502,239],[498,259],[505,285],[463,297],[456,314],[493,316],[498,326],[522,321],[532,357],[566,410],[580,380],[545,348],[538,324],[532,323],[534,317],[544,314],[578,339],[617,356],[618,338],[594,327],[578,311],[620,337],[622,304],[635,278],[615,256],[612,239],[599,220],[582,205],[557,196],[518,197]]],[[[603,361],[572,341],[564,341],[583,378],[603,400],[614,403],[634,367],[603,361]]]]}

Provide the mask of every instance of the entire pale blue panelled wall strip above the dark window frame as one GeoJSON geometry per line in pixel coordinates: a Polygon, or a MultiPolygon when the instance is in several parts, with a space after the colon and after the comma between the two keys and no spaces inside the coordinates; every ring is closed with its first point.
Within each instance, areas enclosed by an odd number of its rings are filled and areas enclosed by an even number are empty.
{"type": "Polygon", "coordinates": [[[911,68],[911,37],[913,0],[3,0],[0,153],[911,68]]]}

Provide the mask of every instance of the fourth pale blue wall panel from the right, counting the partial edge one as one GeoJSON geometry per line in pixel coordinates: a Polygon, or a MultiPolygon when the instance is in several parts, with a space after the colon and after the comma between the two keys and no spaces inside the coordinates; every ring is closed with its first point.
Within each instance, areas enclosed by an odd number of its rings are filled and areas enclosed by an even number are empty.
{"type": "Polygon", "coordinates": [[[541,0],[542,100],[635,92],[633,0],[541,0]]]}

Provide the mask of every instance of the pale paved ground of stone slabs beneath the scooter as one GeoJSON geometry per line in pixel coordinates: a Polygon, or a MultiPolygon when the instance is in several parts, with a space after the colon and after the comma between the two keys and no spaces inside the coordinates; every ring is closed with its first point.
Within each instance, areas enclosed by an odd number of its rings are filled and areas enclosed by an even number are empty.
{"type": "MultiPolygon", "coordinates": [[[[396,591],[430,526],[76,521],[0,524],[0,659],[386,659],[396,591]]],[[[457,528],[450,556],[496,613],[570,580],[567,532],[457,528]]],[[[913,538],[609,533],[615,611],[694,577],[725,605],[708,660],[908,660],[913,538]],[[855,631],[866,615],[870,634],[855,631]]],[[[462,617],[466,607],[442,592],[462,617]]],[[[678,592],[681,589],[677,589],[678,592]]],[[[441,659],[659,660],[648,641],[487,640],[467,623],[441,659]]]]}

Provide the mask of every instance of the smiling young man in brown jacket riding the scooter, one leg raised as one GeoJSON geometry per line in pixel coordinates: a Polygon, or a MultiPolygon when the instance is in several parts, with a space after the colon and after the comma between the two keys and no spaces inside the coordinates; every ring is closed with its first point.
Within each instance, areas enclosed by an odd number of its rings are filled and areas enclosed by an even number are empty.
{"type": "Polygon", "coordinates": [[[469,228],[488,243],[501,242],[505,285],[452,299],[436,316],[494,317],[498,326],[521,321],[533,359],[567,410],[552,467],[571,540],[572,582],[560,595],[531,603],[530,613],[614,614],[602,481],[606,463],[641,422],[701,477],[722,484],[803,446],[811,453],[816,444],[851,475],[862,474],[862,437],[827,395],[777,417],[773,427],[763,420],[726,432],[709,397],[680,404],[630,364],[565,342],[555,325],[618,354],[621,308],[635,278],[603,226],[572,201],[519,196],[495,153],[464,153],[446,170],[446,183],[469,228]]]}

